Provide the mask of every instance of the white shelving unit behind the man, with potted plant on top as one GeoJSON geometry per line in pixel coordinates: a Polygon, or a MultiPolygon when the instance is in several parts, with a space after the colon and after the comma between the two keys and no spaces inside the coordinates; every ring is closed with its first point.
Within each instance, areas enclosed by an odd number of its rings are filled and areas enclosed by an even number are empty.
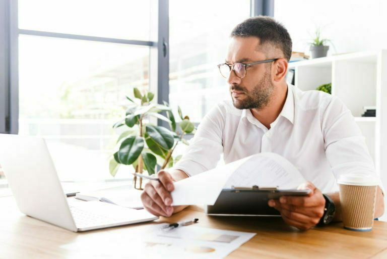
{"type": "Polygon", "coordinates": [[[351,110],[387,188],[387,50],[299,61],[289,69],[304,91],[332,82],[332,94],[351,110]],[[364,106],[376,106],[376,117],[361,117],[364,106]]]}

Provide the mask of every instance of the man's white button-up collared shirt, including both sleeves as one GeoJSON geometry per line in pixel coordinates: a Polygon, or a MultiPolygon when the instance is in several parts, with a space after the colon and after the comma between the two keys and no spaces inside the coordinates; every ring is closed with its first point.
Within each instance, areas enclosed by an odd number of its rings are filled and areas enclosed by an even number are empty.
{"type": "Polygon", "coordinates": [[[351,111],[336,96],[293,85],[270,129],[231,100],[218,103],[174,169],[202,173],[216,167],[222,152],[226,164],[260,152],[280,154],[324,193],[339,191],[335,178],[346,173],[373,175],[381,186],[351,111]]]}

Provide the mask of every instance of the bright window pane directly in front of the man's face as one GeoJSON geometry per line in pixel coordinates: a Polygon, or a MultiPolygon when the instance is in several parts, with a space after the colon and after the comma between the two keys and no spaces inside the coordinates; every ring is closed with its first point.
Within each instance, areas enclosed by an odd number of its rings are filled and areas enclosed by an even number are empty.
{"type": "Polygon", "coordinates": [[[232,29],[248,17],[249,0],[169,1],[169,102],[192,121],[230,98],[216,65],[226,58],[232,29]]]}

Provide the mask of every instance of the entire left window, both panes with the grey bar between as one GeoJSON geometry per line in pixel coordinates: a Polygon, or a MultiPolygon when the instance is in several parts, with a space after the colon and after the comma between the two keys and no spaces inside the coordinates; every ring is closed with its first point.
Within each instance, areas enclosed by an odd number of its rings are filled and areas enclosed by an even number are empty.
{"type": "Polygon", "coordinates": [[[46,139],[62,181],[111,178],[112,125],[150,88],[151,2],[18,1],[19,134],[46,139]]]}

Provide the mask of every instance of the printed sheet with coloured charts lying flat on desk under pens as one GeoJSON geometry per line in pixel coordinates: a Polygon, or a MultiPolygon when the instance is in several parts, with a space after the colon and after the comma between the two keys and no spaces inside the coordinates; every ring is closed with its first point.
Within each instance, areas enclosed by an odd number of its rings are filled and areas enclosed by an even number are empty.
{"type": "Polygon", "coordinates": [[[90,240],[92,236],[88,240],[81,235],[77,237],[76,242],[60,247],[80,257],[84,253],[87,258],[94,256],[144,259],[224,258],[255,235],[255,233],[204,228],[196,225],[179,227],[171,231],[160,230],[164,225],[145,225],[120,233],[106,231],[104,243],[97,239],[90,240]],[[122,251],[122,253],[118,255],[116,251],[122,251]]]}

